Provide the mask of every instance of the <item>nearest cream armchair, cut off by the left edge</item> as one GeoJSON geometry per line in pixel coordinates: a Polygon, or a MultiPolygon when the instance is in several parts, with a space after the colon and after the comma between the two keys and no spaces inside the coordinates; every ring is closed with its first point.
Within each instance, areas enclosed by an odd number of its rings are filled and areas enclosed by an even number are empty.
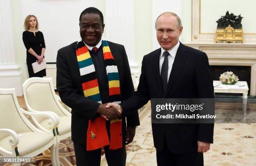
{"type": "MultiPolygon", "coordinates": [[[[27,112],[20,108],[15,89],[0,89],[0,156],[34,157],[51,149],[51,161],[59,166],[56,128],[59,121],[56,114],[50,112],[27,112]],[[44,132],[36,128],[23,113],[33,116],[47,117],[47,125],[52,132],[44,132]]],[[[21,164],[14,164],[21,165],[21,164]]]]}

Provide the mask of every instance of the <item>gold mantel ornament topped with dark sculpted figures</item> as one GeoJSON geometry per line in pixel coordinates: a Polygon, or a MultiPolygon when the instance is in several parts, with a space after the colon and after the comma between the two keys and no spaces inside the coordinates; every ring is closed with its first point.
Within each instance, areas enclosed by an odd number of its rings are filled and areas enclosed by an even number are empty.
{"type": "Polygon", "coordinates": [[[216,21],[218,26],[214,42],[244,43],[243,28],[241,24],[242,18],[241,15],[236,16],[233,13],[229,14],[228,11],[225,16],[221,16],[221,18],[216,21]]]}

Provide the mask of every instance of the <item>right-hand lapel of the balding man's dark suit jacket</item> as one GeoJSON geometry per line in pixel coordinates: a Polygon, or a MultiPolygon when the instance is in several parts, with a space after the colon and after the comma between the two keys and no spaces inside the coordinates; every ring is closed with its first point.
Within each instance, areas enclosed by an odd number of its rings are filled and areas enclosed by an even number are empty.
{"type": "MultiPolygon", "coordinates": [[[[186,47],[180,43],[179,48],[177,50],[173,65],[172,65],[172,71],[168,80],[168,87],[167,87],[167,93],[166,96],[171,92],[173,85],[175,81],[177,80],[177,77],[179,76],[180,70],[182,69],[182,66],[184,65],[184,62],[186,60],[187,54],[185,52],[187,51],[186,47]]],[[[165,97],[166,97],[165,96],[165,97]]]]}

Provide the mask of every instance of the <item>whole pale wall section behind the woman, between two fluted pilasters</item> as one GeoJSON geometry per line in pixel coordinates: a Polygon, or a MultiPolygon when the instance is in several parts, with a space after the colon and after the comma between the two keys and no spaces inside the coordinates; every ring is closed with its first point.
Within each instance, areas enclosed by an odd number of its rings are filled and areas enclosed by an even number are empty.
{"type": "Polygon", "coordinates": [[[58,49],[79,38],[79,15],[87,7],[94,6],[105,13],[105,0],[10,0],[13,38],[17,64],[22,83],[28,78],[26,49],[22,41],[23,24],[27,15],[36,15],[39,31],[46,42],[46,61],[56,62],[58,49]]]}

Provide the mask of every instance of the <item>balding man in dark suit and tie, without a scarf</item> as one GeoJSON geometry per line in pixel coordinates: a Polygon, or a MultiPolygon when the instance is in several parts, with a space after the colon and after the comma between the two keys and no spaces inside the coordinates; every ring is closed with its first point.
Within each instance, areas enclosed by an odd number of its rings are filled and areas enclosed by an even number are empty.
{"type": "MultiPolygon", "coordinates": [[[[115,107],[129,115],[151,98],[214,98],[207,55],[179,42],[180,18],[171,12],[156,19],[161,48],[143,57],[138,90],[115,107]]],[[[213,143],[214,124],[152,124],[158,166],[203,166],[203,153],[213,143]]]]}

